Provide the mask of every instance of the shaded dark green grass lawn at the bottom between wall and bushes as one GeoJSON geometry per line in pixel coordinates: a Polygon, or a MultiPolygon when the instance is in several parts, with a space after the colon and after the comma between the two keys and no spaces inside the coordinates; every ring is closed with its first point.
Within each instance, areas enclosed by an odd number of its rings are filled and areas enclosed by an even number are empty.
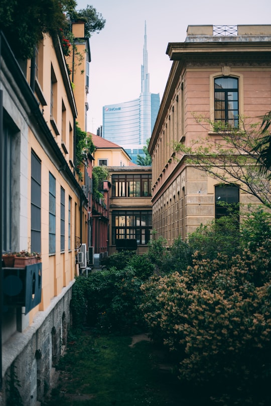
{"type": "Polygon", "coordinates": [[[82,334],[61,358],[57,386],[44,405],[192,405],[163,352],[150,341],[131,343],[130,336],[82,334]]]}

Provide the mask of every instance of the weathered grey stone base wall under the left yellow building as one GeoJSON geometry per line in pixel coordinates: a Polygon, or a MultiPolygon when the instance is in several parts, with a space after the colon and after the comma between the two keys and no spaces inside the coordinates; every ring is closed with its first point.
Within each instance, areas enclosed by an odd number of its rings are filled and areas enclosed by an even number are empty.
{"type": "Polygon", "coordinates": [[[4,344],[1,406],[6,405],[10,395],[11,377],[17,380],[16,387],[25,406],[43,400],[52,382],[54,367],[67,343],[72,285],[63,289],[46,311],[36,314],[34,323],[24,334],[17,332],[4,344]]]}

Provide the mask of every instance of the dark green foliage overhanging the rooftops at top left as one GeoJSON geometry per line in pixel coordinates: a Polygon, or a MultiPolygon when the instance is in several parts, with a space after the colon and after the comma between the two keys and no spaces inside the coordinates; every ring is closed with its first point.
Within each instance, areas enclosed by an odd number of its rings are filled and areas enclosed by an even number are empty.
{"type": "Polygon", "coordinates": [[[75,0],[1,0],[1,29],[17,58],[28,59],[33,56],[34,47],[49,34],[53,40],[71,31],[72,21],[85,21],[85,37],[99,32],[105,25],[101,14],[92,6],[76,12],[75,0]]]}

